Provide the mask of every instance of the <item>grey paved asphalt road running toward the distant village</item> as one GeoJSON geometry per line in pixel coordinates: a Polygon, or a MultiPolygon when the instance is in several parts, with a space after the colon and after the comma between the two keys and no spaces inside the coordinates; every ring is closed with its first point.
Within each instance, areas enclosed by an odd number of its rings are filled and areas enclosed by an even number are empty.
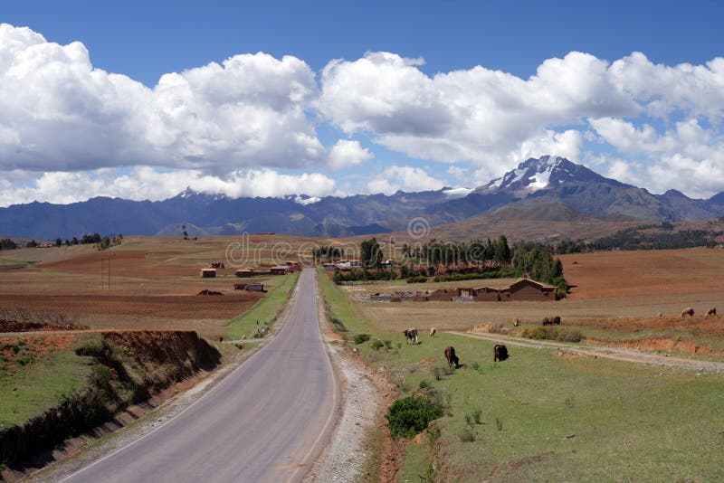
{"type": "Polygon", "coordinates": [[[337,416],[319,333],[317,279],[303,270],[281,332],[157,430],[64,481],[289,481],[304,476],[337,416]]]}

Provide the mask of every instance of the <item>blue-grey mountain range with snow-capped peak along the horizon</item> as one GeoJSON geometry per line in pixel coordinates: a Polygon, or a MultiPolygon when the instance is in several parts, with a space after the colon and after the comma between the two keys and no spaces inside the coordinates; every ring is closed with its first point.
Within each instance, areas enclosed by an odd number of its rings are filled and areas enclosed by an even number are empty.
{"type": "Polygon", "coordinates": [[[566,206],[573,217],[681,222],[723,216],[724,193],[707,200],[691,199],[675,190],[651,194],[566,158],[541,156],[473,190],[230,198],[186,189],[157,202],[100,196],[73,204],[14,204],[0,208],[0,232],[37,239],[80,237],[88,232],[179,236],[185,224],[190,236],[277,232],[340,237],[405,230],[417,216],[441,225],[486,213],[514,213],[531,205],[566,206]]]}

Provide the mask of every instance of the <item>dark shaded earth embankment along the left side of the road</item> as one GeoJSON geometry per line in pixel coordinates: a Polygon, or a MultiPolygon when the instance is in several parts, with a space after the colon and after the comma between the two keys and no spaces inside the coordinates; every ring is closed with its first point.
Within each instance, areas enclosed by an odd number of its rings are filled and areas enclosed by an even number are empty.
{"type": "Polygon", "coordinates": [[[221,363],[214,346],[193,331],[91,333],[74,351],[91,365],[87,384],[23,423],[0,428],[0,462],[13,467],[52,450],[129,405],[221,363]]]}

